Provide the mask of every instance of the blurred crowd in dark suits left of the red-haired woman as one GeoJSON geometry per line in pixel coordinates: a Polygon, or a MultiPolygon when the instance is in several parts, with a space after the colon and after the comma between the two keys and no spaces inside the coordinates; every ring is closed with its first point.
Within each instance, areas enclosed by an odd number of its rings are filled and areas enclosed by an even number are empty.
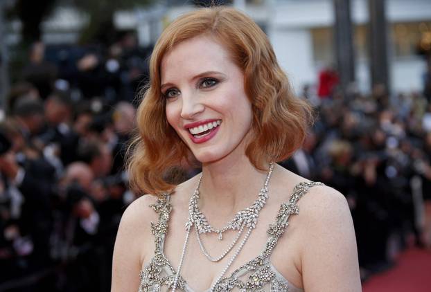
{"type": "Polygon", "coordinates": [[[0,291],[109,291],[148,51],[31,46],[0,122],[0,291]]]}

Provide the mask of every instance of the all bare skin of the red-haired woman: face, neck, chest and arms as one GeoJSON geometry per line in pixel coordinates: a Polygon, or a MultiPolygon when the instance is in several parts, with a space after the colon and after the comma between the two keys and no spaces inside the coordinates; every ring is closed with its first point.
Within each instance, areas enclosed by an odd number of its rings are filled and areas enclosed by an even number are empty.
{"type": "MultiPolygon", "coordinates": [[[[245,156],[252,109],[244,91],[243,73],[222,45],[201,36],[178,44],[164,56],[161,80],[161,91],[165,98],[168,95],[168,122],[202,162],[200,209],[212,226],[225,226],[236,212],[252,204],[266,176],[245,156]],[[193,143],[184,125],[207,118],[222,120],[218,133],[206,143],[193,143]]],[[[195,176],[178,185],[171,197],[173,212],[164,253],[175,268],[186,233],[188,200],[198,179],[195,176]]],[[[288,201],[294,185],[301,181],[306,179],[279,165],[274,167],[270,198],[260,212],[256,229],[226,275],[261,253],[267,227],[274,223],[281,203],[288,201]]],[[[154,196],[143,196],[123,215],[114,249],[112,291],[137,291],[139,271],[154,256],[148,222],[157,222],[157,214],[148,206],[155,200],[154,196]]],[[[355,234],[344,196],[326,186],[315,187],[299,201],[299,208],[300,215],[290,217],[290,225],[272,253],[272,264],[290,283],[306,291],[361,291],[355,234]]],[[[214,234],[202,238],[211,255],[220,255],[235,235],[236,232],[225,232],[222,241],[214,234]]],[[[209,262],[200,251],[193,229],[181,275],[192,289],[204,291],[230,257],[231,254],[218,263],[209,262]]]]}

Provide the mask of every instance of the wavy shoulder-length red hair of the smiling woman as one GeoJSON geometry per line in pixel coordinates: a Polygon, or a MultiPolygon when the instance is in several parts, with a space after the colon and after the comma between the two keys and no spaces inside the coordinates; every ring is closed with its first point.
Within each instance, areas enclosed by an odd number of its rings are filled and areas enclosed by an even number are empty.
{"type": "Polygon", "coordinates": [[[253,111],[254,136],[245,151],[250,162],[264,170],[268,161],[283,161],[304,141],[312,109],[292,93],[265,33],[234,8],[201,8],[173,21],[152,52],[150,82],[146,92],[140,94],[138,131],[127,159],[130,185],[139,193],[161,194],[172,190],[175,185],[168,183],[166,174],[184,160],[193,161],[193,154],[166,119],[160,67],[164,55],[175,45],[200,35],[212,37],[225,46],[244,73],[245,93],[253,111]]]}

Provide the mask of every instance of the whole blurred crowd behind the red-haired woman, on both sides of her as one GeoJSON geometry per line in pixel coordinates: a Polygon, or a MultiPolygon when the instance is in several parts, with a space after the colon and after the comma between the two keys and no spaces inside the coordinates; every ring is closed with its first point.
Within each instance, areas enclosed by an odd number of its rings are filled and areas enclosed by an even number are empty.
{"type": "MultiPolygon", "coordinates": [[[[30,48],[0,122],[0,291],[109,291],[118,223],[136,198],[123,164],[149,54],[132,34],[30,48]]],[[[346,196],[363,277],[406,246],[431,246],[427,76],[423,93],[396,96],[342,95],[336,78],[320,96],[304,89],[317,119],[281,165],[346,196]]]]}

